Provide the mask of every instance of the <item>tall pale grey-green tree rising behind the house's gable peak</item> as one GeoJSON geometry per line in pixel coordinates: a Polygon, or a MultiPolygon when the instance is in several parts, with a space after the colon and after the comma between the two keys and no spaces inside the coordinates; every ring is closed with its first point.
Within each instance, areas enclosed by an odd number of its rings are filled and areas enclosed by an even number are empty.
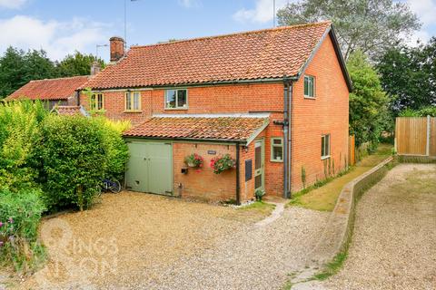
{"type": "Polygon", "coordinates": [[[345,60],[356,50],[373,59],[421,27],[406,3],[392,0],[301,0],[277,16],[281,25],[331,20],[345,60]]]}

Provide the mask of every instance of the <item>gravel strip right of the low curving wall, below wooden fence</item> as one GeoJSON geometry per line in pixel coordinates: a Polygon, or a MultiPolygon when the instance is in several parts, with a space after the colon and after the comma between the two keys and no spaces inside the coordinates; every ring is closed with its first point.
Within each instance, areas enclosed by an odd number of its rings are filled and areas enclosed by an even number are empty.
{"type": "Polygon", "coordinates": [[[401,164],[365,193],[342,271],[309,288],[436,289],[436,165],[401,164]]]}

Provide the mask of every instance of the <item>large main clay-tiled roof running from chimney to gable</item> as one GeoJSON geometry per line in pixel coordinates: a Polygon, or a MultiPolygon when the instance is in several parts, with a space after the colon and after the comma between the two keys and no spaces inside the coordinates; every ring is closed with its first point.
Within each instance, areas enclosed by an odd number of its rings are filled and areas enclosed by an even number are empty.
{"type": "Polygon", "coordinates": [[[109,89],[295,76],[331,23],[134,46],[82,88],[109,89]]]}

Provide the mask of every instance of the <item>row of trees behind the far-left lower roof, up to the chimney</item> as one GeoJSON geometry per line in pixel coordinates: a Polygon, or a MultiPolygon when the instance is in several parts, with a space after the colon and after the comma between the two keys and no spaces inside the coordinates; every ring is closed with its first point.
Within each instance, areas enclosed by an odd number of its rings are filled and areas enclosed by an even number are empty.
{"type": "Polygon", "coordinates": [[[0,100],[32,80],[87,75],[94,61],[104,67],[103,60],[97,60],[92,54],[76,52],[55,63],[44,50],[25,53],[11,46],[0,57],[0,100]]]}

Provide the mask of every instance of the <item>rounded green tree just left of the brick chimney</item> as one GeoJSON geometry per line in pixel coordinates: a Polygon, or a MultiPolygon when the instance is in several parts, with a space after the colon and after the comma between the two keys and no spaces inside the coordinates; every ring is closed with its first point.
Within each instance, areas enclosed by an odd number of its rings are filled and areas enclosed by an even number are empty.
{"type": "Polygon", "coordinates": [[[104,67],[104,61],[97,59],[92,54],[83,54],[75,52],[74,55],[68,54],[57,65],[57,70],[60,76],[75,76],[75,75],[88,75],[91,70],[91,64],[98,62],[104,67]]]}

